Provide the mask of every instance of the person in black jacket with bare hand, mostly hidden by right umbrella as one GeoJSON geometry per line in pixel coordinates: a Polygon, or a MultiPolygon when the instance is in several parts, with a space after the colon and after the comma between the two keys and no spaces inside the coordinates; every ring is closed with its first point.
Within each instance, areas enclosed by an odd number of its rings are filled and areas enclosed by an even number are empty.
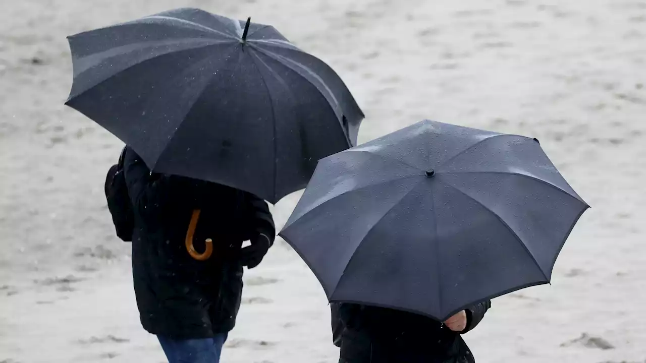
{"type": "Polygon", "coordinates": [[[461,334],[474,329],[490,307],[487,300],[441,323],[406,311],[333,303],[339,363],[474,363],[461,334]]]}

